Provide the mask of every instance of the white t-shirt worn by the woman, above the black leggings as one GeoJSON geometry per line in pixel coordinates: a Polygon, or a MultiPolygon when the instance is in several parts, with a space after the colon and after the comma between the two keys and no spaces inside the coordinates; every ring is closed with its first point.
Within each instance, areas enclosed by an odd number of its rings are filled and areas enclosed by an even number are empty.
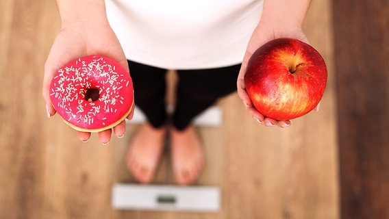
{"type": "Polygon", "coordinates": [[[106,0],[127,59],[168,69],[242,62],[263,0],[106,0]]]}

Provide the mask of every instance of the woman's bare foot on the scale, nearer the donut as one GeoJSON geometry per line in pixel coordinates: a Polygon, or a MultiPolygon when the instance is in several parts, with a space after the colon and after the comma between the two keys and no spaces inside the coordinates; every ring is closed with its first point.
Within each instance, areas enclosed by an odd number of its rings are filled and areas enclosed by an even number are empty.
{"type": "Polygon", "coordinates": [[[132,139],[127,153],[127,166],[140,183],[150,183],[164,148],[166,127],[155,129],[145,123],[132,139]]]}

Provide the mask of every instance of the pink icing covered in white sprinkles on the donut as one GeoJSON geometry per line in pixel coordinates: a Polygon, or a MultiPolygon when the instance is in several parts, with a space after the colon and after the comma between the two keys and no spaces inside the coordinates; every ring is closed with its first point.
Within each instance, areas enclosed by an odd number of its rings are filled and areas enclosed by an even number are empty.
{"type": "Polygon", "coordinates": [[[130,81],[123,77],[125,75],[122,73],[116,72],[115,66],[106,63],[103,57],[95,55],[92,58],[88,64],[79,58],[75,61],[77,67],[58,70],[58,74],[53,78],[50,95],[58,100],[54,107],[63,109],[67,118],[62,117],[69,123],[104,127],[107,117],[101,118],[101,115],[97,115],[100,112],[103,116],[118,112],[117,108],[125,104],[122,89],[127,88],[130,81]],[[99,89],[99,100],[92,102],[85,99],[86,90],[90,88],[99,89]],[[77,103],[77,107],[74,103],[77,103]]]}

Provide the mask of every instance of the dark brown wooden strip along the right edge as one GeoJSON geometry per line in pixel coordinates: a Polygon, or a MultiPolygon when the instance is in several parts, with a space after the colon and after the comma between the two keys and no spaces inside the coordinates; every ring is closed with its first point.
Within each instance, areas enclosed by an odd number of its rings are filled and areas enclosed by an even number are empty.
{"type": "Polygon", "coordinates": [[[342,218],[389,218],[389,2],[333,4],[342,218]]]}

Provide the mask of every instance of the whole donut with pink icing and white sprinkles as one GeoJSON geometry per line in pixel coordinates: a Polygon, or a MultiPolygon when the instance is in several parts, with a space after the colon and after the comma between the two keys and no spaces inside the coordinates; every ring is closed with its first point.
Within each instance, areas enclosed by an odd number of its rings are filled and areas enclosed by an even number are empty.
{"type": "Polygon", "coordinates": [[[88,55],[69,62],[54,75],[50,99],[64,122],[78,131],[110,129],[131,112],[134,88],[118,62],[88,55]]]}

